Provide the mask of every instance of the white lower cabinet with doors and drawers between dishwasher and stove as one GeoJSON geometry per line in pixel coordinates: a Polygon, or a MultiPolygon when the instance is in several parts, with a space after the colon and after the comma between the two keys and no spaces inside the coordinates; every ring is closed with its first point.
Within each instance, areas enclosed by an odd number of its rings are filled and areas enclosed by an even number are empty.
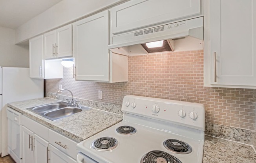
{"type": "Polygon", "coordinates": [[[22,118],[23,163],[75,163],[76,145],[66,136],[55,132],[26,116],[22,118]]]}

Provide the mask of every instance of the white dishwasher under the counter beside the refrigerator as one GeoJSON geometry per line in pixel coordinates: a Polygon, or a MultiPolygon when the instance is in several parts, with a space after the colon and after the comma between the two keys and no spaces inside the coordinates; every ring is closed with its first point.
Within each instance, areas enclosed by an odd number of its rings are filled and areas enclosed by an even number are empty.
{"type": "Polygon", "coordinates": [[[22,162],[22,145],[20,129],[22,126],[22,114],[7,107],[8,119],[8,153],[16,163],[22,162]]]}

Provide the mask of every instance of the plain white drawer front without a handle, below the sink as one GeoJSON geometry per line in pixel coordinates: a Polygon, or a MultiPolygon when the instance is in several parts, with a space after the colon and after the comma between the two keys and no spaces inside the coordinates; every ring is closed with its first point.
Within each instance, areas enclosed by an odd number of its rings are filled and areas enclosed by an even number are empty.
{"type": "Polygon", "coordinates": [[[27,129],[39,135],[41,138],[44,138],[46,141],[49,141],[49,129],[26,116],[22,116],[22,123],[27,129]]]}

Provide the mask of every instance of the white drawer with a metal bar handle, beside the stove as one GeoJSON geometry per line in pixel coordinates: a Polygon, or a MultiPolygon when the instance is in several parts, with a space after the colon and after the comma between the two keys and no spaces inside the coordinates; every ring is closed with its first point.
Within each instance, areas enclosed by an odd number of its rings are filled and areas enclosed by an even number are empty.
{"type": "Polygon", "coordinates": [[[49,129],[49,143],[61,150],[65,154],[71,156],[71,158],[77,158],[77,144],[78,142],[71,140],[70,138],[49,129]]]}

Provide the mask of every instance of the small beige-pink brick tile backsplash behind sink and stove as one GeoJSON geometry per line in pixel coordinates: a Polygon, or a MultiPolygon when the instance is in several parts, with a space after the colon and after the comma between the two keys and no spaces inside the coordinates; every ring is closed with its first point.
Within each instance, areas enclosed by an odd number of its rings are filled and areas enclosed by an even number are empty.
{"type": "Polygon", "coordinates": [[[255,129],[256,90],[203,87],[202,50],[130,56],[128,66],[129,82],[121,83],[75,81],[73,68],[64,67],[63,79],[46,80],[46,91],[55,93],[62,84],[74,97],[114,105],[126,94],[202,103],[206,122],[255,129]]]}

